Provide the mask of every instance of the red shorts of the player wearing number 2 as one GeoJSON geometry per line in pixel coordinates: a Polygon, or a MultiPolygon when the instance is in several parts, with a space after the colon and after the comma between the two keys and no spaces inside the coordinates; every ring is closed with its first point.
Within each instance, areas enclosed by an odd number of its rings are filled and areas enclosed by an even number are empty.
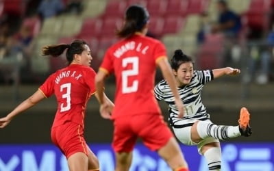
{"type": "Polygon", "coordinates": [[[114,120],[112,147],[115,152],[131,152],[137,138],[151,150],[158,150],[173,137],[162,115],[141,114],[114,120]]]}

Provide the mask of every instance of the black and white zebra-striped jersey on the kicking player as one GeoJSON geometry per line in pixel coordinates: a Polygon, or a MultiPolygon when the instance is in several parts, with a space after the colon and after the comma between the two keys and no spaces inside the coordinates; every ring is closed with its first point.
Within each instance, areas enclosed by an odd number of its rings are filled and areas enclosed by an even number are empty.
{"type": "MultiPolygon", "coordinates": [[[[209,114],[201,102],[201,91],[203,86],[214,79],[212,70],[195,70],[190,83],[178,88],[180,98],[184,103],[184,119],[207,120],[209,114]]],[[[175,106],[174,96],[169,84],[162,80],[154,88],[155,98],[158,101],[164,100],[169,105],[169,122],[171,126],[181,118],[177,118],[178,110],[175,106]]]]}

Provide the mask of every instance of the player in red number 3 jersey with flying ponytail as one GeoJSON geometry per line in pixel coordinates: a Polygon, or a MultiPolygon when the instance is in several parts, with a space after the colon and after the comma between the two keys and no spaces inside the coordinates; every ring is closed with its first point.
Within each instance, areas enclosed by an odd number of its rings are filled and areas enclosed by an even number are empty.
{"type": "MultiPolygon", "coordinates": [[[[0,128],[5,127],[22,111],[55,94],[58,109],[51,127],[51,140],[66,156],[69,170],[99,170],[99,161],[84,140],[86,104],[95,92],[95,71],[90,68],[90,48],[83,40],[71,44],[53,44],[42,49],[42,55],[59,56],[64,50],[69,66],[50,75],[45,83],[5,118],[0,118],[0,128]],[[64,133],[65,132],[65,133],[64,133]]],[[[98,97],[98,96],[97,96],[98,97]]],[[[102,98],[102,97],[101,97],[102,98]]],[[[103,100],[113,105],[103,94],[103,100]]],[[[103,112],[103,111],[102,111],[103,112]]]]}

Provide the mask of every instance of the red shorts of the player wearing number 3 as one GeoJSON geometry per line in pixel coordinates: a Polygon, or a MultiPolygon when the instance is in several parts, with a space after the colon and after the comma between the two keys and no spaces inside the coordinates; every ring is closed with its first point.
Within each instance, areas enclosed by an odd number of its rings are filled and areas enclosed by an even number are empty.
{"type": "Polygon", "coordinates": [[[84,140],[84,129],[80,124],[66,121],[51,128],[51,140],[68,159],[77,152],[88,155],[88,146],[84,140]]]}

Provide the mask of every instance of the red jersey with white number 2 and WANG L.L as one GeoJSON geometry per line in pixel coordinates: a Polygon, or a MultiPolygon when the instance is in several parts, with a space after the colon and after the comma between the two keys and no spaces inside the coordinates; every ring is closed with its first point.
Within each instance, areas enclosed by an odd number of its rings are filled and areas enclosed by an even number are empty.
{"type": "Polygon", "coordinates": [[[166,49],[160,41],[137,34],[108,49],[99,69],[116,77],[112,118],[160,114],[153,87],[156,62],[162,57],[166,57],[166,49]]]}

